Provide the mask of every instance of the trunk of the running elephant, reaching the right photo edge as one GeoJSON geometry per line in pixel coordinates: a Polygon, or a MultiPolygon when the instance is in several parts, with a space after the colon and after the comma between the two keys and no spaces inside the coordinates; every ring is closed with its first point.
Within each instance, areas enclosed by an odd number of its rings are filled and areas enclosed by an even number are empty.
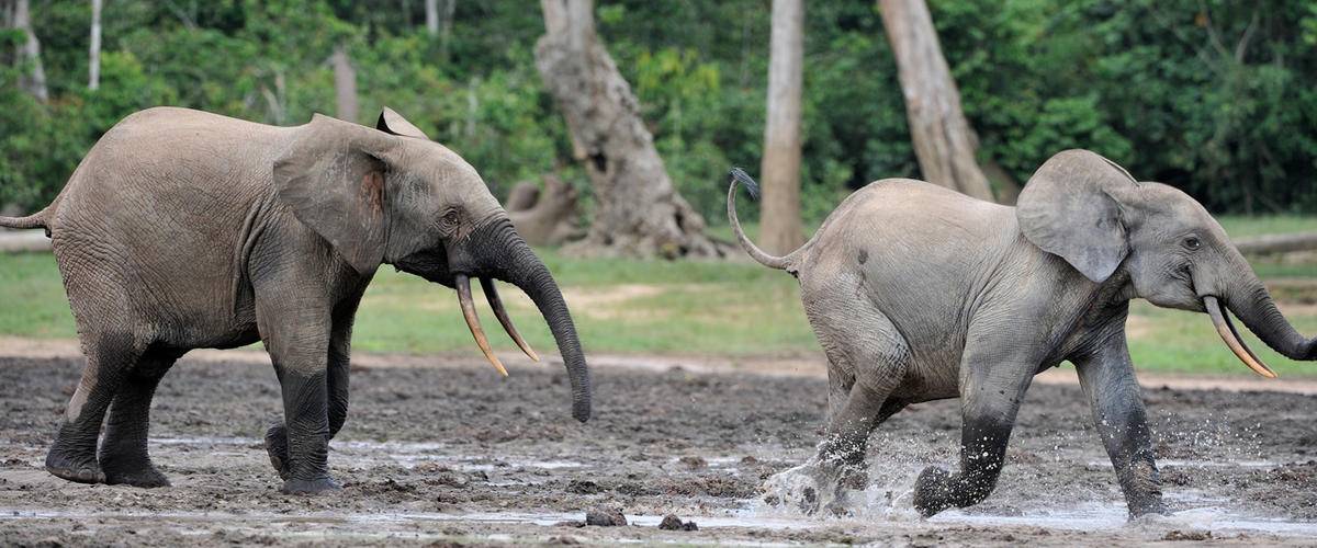
{"type": "MultiPolygon", "coordinates": [[[[1238,252],[1230,283],[1221,300],[1263,343],[1292,360],[1317,359],[1317,339],[1306,339],[1276,309],[1258,275],[1238,252]]],[[[1210,306],[1209,306],[1210,309],[1210,306]]],[[[1210,311],[1210,310],[1209,310],[1210,311]]],[[[1227,319],[1229,322],[1229,319],[1227,319]]]]}

